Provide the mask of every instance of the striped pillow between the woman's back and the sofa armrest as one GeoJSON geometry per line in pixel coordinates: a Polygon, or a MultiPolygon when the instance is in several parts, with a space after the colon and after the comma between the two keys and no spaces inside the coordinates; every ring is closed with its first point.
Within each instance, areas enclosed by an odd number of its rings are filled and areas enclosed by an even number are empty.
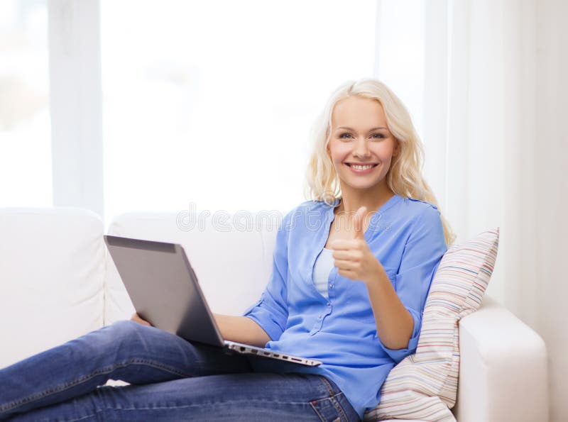
{"type": "Polygon", "coordinates": [[[432,280],[416,352],[388,374],[364,421],[455,421],[461,318],[479,309],[497,256],[499,228],[451,246],[432,280]]]}

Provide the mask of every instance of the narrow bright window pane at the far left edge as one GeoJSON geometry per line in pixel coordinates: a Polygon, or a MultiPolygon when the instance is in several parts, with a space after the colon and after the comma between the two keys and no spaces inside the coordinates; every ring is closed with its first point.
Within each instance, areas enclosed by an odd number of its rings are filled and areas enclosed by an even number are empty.
{"type": "Polygon", "coordinates": [[[0,206],[52,206],[47,6],[0,1],[0,206]]]}

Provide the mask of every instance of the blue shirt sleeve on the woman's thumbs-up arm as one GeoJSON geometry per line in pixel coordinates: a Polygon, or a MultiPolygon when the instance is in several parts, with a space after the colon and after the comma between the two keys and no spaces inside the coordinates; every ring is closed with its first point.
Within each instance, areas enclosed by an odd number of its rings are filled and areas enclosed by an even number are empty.
{"type": "Polygon", "coordinates": [[[434,206],[429,206],[417,217],[395,276],[395,291],[413,317],[412,336],[408,341],[408,347],[403,349],[389,349],[381,342],[383,350],[397,364],[406,356],[416,352],[422,328],[422,313],[428,291],[430,291],[430,284],[446,251],[447,246],[439,211],[434,206]]]}

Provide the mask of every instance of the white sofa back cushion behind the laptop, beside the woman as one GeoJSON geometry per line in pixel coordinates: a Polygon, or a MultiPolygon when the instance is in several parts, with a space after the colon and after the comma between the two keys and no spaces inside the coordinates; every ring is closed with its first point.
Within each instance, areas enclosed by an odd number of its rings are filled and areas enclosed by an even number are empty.
{"type": "MultiPolygon", "coordinates": [[[[109,235],[180,243],[210,309],[239,315],[260,297],[272,271],[279,215],[265,213],[125,213],[109,235]]],[[[108,254],[108,251],[107,251],[108,254]]],[[[134,312],[114,262],[107,257],[104,324],[134,312]]]]}

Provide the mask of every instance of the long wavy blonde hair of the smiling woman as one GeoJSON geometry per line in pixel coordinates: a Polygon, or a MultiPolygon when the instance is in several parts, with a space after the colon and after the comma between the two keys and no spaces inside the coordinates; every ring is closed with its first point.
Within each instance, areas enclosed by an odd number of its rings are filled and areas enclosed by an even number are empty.
{"type": "MultiPolygon", "coordinates": [[[[376,79],[359,79],[349,81],[338,87],[329,97],[321,115],[312,127],[314,141],[312,154],[307,165],[305,192],[307,199],[325,201],[329,206],[341,198],[339,177],[327,152],[327,145],[332,133],[332,112],[338,101],[349,96],[360,96],[378,101],[385,111],[388,130],[394,135],[400,152],[393,157],[391,168],[386,174],[388,187],[403,197],[420,199],[435,206],[436,197],[422,177],[424,147],[413,126],[410,114],[391,89],[376,79]]],[[[337,205],[339,206],[339,204],[337,205]]],[[[451,245],[456,239],[448,221],[440,211],[444,239],[446,245],[451,245]]]]}

